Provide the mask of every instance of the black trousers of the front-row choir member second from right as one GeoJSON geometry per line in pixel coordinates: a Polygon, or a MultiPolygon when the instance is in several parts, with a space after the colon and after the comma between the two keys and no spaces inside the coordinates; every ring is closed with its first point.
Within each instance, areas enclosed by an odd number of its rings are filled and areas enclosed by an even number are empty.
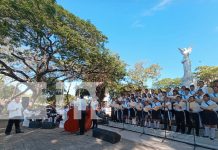
{"type": "Polygon", "coordinates": [[[200,127],[199,114],[189,113],[189,117],[190,117],[190,121],[188,125],[188,134],[191,133],[191,130],[194,127],[196,135],[199,136],[199,127],[200,127]]]}

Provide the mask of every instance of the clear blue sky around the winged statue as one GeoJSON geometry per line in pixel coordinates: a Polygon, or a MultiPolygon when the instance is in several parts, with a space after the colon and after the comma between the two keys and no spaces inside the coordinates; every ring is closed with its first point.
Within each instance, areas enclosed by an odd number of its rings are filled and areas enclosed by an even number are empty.
{"type": "Polygon", "coordinates": [[[218,0],[57,0],[90,20],[122,60],[158,63],[161,78],[182,77],[178,47],[191,46],[192,69],[218,65],[218,0]]]}

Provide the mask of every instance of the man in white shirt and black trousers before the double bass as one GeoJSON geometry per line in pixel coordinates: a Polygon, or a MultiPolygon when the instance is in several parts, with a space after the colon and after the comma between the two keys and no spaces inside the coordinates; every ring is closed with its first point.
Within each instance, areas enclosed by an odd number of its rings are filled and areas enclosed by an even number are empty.
{"type": "Polygon", "coordinates": [[[86,100],[83,95],[80,96],[80,99],[77,100],[78,112],[81,114],[79,118],[79,135],[84,135],[85,132],[85,119],[86,119],[86,100]]]}

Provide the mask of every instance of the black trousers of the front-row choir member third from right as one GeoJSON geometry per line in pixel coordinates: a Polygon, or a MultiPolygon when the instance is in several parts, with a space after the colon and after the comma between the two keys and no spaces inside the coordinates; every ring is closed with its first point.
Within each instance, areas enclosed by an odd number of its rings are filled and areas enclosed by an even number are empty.
{"type": "Polygon", "coordinates": [[[185,112],[176,111],[176,132],[179,132],[181,129],[181,133],[185,133],[185,112]]]}

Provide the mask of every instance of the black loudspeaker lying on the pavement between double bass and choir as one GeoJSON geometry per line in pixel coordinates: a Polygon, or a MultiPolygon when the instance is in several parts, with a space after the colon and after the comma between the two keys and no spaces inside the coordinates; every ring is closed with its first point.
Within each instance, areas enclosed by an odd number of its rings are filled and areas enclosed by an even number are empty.
{"type": "Polygon", "coordinates": [[[99,128],[93,129],[92,136],[112,144],[119,142],[121,139],[121,136],[118,133],[99,128]]]}

